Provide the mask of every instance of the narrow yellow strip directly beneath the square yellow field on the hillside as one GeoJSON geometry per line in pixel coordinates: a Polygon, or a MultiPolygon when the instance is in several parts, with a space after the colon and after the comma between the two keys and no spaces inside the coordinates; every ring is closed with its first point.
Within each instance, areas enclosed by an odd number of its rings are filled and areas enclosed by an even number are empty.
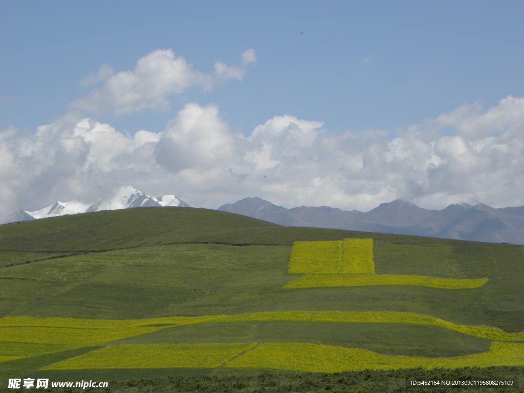
{"type": "Polygon", "coordinates": [[[374,285],[411,285],[439,289],[471,289],[482,287],[487,278],[443,278],[398,274],[322,274],[305,275],[282,288],[362,287],[374,285]]]}

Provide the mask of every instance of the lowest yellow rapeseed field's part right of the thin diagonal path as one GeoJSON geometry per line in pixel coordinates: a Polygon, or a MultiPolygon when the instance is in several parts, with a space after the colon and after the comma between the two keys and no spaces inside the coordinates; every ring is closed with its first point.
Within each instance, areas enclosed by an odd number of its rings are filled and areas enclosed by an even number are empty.
{"type": "Polygon", "coordinates": [[[381,355],[360,348],[308,343],[260,344],[226,367],[270,368],[313,373],[400,368],[524,366],[524,344],[494,342],[488,352],[450,358],[381,355]]]}

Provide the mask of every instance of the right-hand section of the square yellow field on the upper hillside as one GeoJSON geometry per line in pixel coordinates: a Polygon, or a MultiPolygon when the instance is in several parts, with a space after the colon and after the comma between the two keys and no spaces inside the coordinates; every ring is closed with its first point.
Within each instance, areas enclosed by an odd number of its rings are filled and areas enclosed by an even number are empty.
{"type": "Polygon", "coordinates": [[[373,239],[344,239],[339,274],[374,274],[373,239]]]}

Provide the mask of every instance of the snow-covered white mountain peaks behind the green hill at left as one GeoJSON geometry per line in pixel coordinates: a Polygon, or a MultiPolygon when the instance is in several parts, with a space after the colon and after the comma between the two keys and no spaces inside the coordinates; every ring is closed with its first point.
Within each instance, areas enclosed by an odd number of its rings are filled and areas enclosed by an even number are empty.
{"type": "MultiPolygon", "coordinates": [[[[24,213],[30,217],[33,217],[34,219],[43,219],[46,217],[56,217],[65,214],[79,214],[98,212],[101,210],[118,210],[153,206],[180,206],[189,208],[187,203],[178,199],[175,195],[149,196],[137,190],[132,185],[124,185],[123,187],[120,187],[111,198],[99,200],[93,204],[82,203],[76,200],[69,202],[55,202],[46,208],[36,210],[34,212],[25,211],[24,213]]],[[[28,217],[24,217],[28,219],[28,217]]]]}

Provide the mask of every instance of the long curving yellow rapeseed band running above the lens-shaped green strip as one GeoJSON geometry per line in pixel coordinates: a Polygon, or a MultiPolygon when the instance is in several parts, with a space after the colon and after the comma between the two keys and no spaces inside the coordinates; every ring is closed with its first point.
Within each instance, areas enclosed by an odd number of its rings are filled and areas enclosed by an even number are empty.
{"type": "MultiPolygon", "coordinates": [[[[51,318],[51,317],[50,317],[51,318]]],[[[434,318],[429,315],[414,314],[395,311],[270,311],[247,314],[203,315],[185,317],[165,317],[144,320],[122,321],[129,328],[121,329],[95,329],[95,328],[70,328],[67,324],[61,328],[46,326],[27,326],[26,322],[35,317],[27,317],[20,321],[21,325],[0,327],[0,355],[26,355],[59,352],[68,348],[99,345],[114,340],[132,337],[138,334],[154,332],[171,326],[193,325],[201,323],[235,323],[249,321],[314,321],[314,322],[341,322],[341,323],[403,323],[439,326],[455,332],[482,337],[497,341],[524,341],[524,332],[507,333],[493,326],[460,325],[434,318]],[[151,326],[161,324],[163,326],[151,326]],[[43,344],[42,347],[31,345],[43,344]],[[16,347],[18,345],[18,347],[16,347]]],[[[0,319],[0,324],[3,323],[0,319]]],[[[12,321],[11,321],[12,322],[12,321]]],[[[51,322],[51,321],[48,321],[51,322]]],[[[69,321],[62,321],[67,323],[69,321]]],[[[75,323],[84,326],[97,326],[100,321],[84,319],[75,323]]]]}

